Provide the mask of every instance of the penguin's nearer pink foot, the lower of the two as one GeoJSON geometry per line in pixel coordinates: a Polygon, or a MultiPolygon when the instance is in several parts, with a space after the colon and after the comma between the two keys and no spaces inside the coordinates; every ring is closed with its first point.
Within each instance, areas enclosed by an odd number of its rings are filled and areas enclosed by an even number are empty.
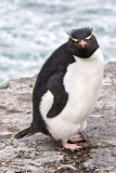
{"type": "Polygon", "coordinates": [[[72,151],[81,149],[81,146],[77,146],[76,144],[68,144],[68,143],[63,143],[63,147],[72,151]]]}

